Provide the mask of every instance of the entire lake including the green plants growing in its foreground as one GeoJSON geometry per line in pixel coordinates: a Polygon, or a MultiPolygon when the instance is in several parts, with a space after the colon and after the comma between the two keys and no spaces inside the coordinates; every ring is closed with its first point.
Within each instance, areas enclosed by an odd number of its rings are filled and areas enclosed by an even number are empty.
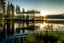
{"type": "Polygon", "coordinates": [[[35,40],[34,43],[63,43],[63,37],[63,21],[0,23],[0,43],[28,43],[28,39],[31,42],[35,40]]]}

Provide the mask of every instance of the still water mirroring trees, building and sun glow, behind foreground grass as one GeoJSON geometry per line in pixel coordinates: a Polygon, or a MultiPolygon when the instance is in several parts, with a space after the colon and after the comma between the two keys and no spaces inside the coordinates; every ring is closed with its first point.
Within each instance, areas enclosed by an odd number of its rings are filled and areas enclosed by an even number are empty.
{"type": "MultiPolygon", "coordinates": [[[[26,36],[30,33],[33,33],[33,35],[36,35],[34,32],[37,32],[37,38],[41,37],[43,39],[42,34],[44,34],[44,31],[50,31],[48,34],[53,33],[56,36],[60,36],[58,34],[61,33],[61,36],[63,37],[63,31],[64,31],[64,24],[54,24],[54,23],[46,23],[44,22],[5,22],[4,24],[0,23],[0,42],[5,42],[8,39],[15,40],[26,40],[26,36]],[[40,34],[40,35],[39,35],[40,34]],[[57,35],[56,35],[57,34],[57,35]],[[18,39],[19,38],[19,39],[18,39]]],[[[46,36],[47,38],[49,36],[46,36]]],[[[51,37],[51,36],[50,36],[51,37]]],[[[37,39],[36,38],[36,39],[37,39]]],[[[11,42],[16,42],[16,41],[11,42]]],[[[40,39],[38,39],[40,40],[40,39]]],[[[10,41],[10,40],[9,40],[10,41]]],[[[21,41],[20,41],[21,42],[21,41]]],[[[19,42],[19,43],[20,43],[19,42]]]]}

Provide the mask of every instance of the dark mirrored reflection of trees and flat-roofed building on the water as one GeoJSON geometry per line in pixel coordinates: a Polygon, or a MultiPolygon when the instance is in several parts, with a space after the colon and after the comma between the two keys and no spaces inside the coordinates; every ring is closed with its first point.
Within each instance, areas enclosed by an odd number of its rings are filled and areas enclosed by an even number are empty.
{"type": "Polygon", "coordinates": [[[11,37],[16,33],[25,33],[26,31],[34,31],[33,22],[5,22],[4,25],[0,23],[0,41],[7,37],[11,37]]]}

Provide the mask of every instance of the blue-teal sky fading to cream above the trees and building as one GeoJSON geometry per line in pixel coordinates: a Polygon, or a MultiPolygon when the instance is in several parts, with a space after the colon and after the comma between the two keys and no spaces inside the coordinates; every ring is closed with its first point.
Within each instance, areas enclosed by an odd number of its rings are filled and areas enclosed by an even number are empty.
{"type": "Polygon", "coordinates": [[[6,3],[12,2],[14,5],[18,4],[22,10],[39,10],[46,11],[52,14],[64,13],[64,0],[6,0],[6,3]]]}

